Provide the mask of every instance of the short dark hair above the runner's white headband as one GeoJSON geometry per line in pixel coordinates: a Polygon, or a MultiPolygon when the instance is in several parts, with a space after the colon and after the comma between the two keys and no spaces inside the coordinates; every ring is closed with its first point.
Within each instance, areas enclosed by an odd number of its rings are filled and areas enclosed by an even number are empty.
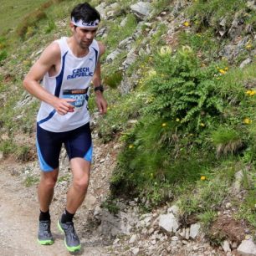
{"type": "Polygon", "coordinates": [[[81,19],[84,23],[89,23],[95,21],[95,19],[100,20],[100,13],[95,8],[92,8],[89,3],[79,3],[71,12],[72,17],[75,22],[81,19]]]}

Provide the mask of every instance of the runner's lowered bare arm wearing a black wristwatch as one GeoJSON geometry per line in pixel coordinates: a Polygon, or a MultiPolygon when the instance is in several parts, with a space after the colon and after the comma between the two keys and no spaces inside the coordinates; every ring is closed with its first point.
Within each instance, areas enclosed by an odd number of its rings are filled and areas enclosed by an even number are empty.
{"type": "MultiPolygon", "coordinates": [[[[100,49],[100,56],[102,54],[105,53],[105,45],[98,42],[99,44],[99,49],[100,49]]],[[[104,98],[103,95],[103,90],[101,87],[99,87],[101,85],[101,77],[100,77],[100,57],[95,69],[95,74],[94,77],[92,79],[92,82],[94,84],[95,87],[95,100],[96,100],[96,104],[98,106],[98,110],[100,111],[100,114],[105,114],[107,111],[107,102],[104,98]],[[98,90],[97,90],[98,89],[98,90]]]]}

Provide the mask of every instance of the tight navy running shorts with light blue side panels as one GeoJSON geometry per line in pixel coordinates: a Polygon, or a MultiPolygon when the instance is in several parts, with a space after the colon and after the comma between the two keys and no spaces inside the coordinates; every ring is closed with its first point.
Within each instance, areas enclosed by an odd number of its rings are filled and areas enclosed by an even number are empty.
{"type": "Polygon", "coordinates": [[[40,168],[50,172],[59,167],[59,153],[64,144],[69,160],[74,157],[91,161],[92,141],[90,123],[72,131],[46,131],[37,125],[37,150],[40,168]]]}

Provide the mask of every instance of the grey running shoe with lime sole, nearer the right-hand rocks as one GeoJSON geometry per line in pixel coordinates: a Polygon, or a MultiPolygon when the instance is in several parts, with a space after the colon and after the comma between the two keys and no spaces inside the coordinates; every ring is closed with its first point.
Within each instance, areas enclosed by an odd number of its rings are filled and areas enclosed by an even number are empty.
{"type": "Polygon", "coordinates": [[[79,251],[81,244],[78,235],[75,233],[74,223],[61,223],[59,220],[58,227],[59,230],[65,234],[64,243],[69,252],[79,251]]]}

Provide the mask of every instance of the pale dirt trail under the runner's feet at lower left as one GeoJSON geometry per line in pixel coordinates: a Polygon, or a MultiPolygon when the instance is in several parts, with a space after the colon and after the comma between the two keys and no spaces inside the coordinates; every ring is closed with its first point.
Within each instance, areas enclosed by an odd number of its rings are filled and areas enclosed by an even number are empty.
{"type": "MultiPolygon", "coordinates": [[[[20,177],[11,172],[18,165],[0,166],[0,255],[70,255],[64,247],[64,237],[57,228],[58,217],[52,215],[54,244],[38,244],[38,202],[36,187],[24,187],[20,177]]],[[[76,255],[106,255],[99,244],[91,244],[83,238],[82,250],[76,255]],[[83,244],[84,243],[84,244],[83,244]]]]}

